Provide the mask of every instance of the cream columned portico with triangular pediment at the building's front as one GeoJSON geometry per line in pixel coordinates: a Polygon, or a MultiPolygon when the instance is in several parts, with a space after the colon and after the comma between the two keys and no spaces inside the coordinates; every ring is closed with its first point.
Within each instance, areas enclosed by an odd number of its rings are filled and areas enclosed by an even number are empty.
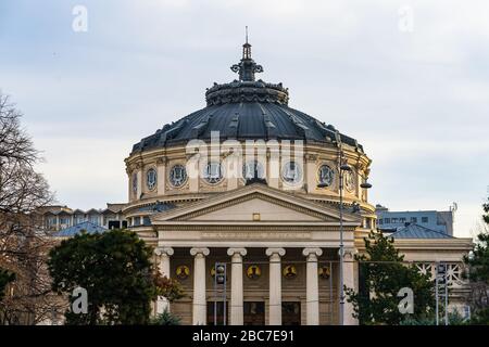
{"type": "MultiPolygon", "coordinates": [[[[185,319],[191,308],[191,319],[186,318],[188,323],[214,323],[208,319],[209,309],[213,309],[210,303],[223,301],[222,295],[215,296],[211,271],[218,261],[227,264],[227,324],[246,324],[244,306],[256,309],[262,305],[264,323],[269,325],[337,324],[336,214],[334,207],[252,184],[199,202],[192,208],[154,215],[152,224],[159,234],[156,254],[164,255],[160,269],[170,268],[172,277],[180,281],[188,294],[172,310],[185,319]],[[238,210],[239,215],[233,213],[238,210]],[[231,221],[223,220],[227,218],[231,221]],[[329,271],[330,278],[319,278],[323,268],[328,269],[324,271],[329,271]],[[178,275],[185,269],[188,274],[178,275]]],[[[354,230],[360,224],[358,216],[344,216],[347,248],[353,248],[354,230]]],[[[355,285],[352,266],[343,267],[343,278],[348,285],[355,285]]],[[[346,314],[346,323],[355,323],[351,314],[346,314]]]]}

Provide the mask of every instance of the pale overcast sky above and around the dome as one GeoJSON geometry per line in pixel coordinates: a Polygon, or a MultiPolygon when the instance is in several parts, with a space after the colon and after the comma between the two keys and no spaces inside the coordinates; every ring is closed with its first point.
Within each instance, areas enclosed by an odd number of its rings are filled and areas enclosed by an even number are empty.
{"type": "Polygon", "coordinates": [[[59,202],[101,208],[127,201],[134,143],[236,78],[248,25],[260,78],[364,145],[372,204],[456,202],[468,236],[489,185],[488,16],[484,0],[1,0],[0,88],[59,202]]]}

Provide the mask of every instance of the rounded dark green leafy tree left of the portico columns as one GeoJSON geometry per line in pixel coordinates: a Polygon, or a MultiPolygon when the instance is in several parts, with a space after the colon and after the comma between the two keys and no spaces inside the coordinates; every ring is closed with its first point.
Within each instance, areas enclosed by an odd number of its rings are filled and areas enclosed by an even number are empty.
{"type": "Polygon", "coordinates": [[[73,303],[73,290],[88,294],[88,313],[66,311],[67,324],[147,324],[158,295],[151,248],[135,232],[82,233],[50,252],[49,270],[55,292],[73,303]]]}

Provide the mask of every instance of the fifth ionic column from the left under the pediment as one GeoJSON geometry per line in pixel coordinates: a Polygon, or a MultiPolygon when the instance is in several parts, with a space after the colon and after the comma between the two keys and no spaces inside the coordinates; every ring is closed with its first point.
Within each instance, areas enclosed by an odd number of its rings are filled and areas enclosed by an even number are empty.
{"type": "Polygon", "coordinates": [[[321,248],[304,248],[302,254],[308,257],[305,268],[305,321],[308,325],[319,325],[317,257],[323,254],[323,250],[321,248]]]}

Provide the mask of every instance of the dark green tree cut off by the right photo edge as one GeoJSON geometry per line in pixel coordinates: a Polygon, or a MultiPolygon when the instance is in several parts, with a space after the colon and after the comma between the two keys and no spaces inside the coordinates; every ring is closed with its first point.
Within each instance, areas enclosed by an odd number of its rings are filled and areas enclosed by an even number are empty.
{"type": "Polygon", "coordinates": [[[485,227],[477,235],[471,256],[464,257],[471,281],[472,324],[489,324],[489,197],[482,204],[485,227]]]}

